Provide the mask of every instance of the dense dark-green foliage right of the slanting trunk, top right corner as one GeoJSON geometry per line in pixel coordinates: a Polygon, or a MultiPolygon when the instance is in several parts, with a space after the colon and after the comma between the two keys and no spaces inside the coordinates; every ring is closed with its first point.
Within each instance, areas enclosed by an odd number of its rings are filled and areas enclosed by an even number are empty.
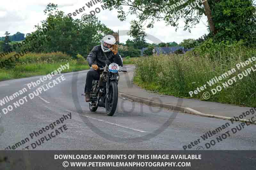
{"type": "Polygon", "coordinates": [[[219,0],[209,3],[214,11],[215,41],[240,41],[256,44],[256,7],[252,0],[219,0]]]}

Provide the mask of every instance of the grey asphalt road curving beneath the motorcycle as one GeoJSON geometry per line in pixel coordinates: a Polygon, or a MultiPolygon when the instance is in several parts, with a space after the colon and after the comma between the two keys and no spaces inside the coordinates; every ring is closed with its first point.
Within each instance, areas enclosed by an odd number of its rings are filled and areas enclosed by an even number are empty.
{"type": "MultiPolygon", "coordinates": [[[[127,67],[132,71],[133,67],[127,67]]],[[[28,100],[13,111],[3,114],[2,109],[9,104],[17,101],[16,99],[0,106],[2,117],[0,118],[0,149],[5,149],[9,145],[15,145],[33,131],[39,131],[47,125],[71,113],[71,119],[67,119],[59,128],[66,124],[67,130],[61,132],[58,136],[49,141],[45,141],[35,149],[38,150],[183,150],[183,146],[190,144],[190,150],[205,149],[205,144],[210,143],[212,139],[216,144],[209,150],[255,150],[256,137],[255,125],[244,126],[237,130],[235,134],[231,131],[240,123],[230,124],[229,127],[213,135],[210,139],[203,140],[201,136],[209,130],[215,130],[228,121],[178,113],[172,123],[163,132],[157,134],[154,132],[164,123],[170,121],[172,111],[142,105],[140,103],[118,99],[117,111],[114,116],[110,117],[105,114],[104,108],[98,108],[97,112],[92,113],[88,108],[88,103],[84,102],[85,75],[88,70],[76,73],[66,73],[63,75],[66,80],[62,81],[53,88],[43,92],[33,100],[28,100]],[[77,81],[76,77],[77,76],[77,81]],[[78,101],[74,101],[72,95],[72,84],[77,85],[78,101]],[[79,102],[79,103],[77,103],[79,102]],[[76,104],[75,104],[76,103],[76,104]],[[81,114],[76,105],[82,108],[81,114]],[[228,133],[225,133],[229,131],[228,133]],[[226,134],[222,135],[222,134],[226,134]],[[148,135],[148,134],[151,134],[148,135]],[[147,135],[149,137],[147,137],[147,135]],[[216,137],[222,135],[222,141],[217,141],[216,137]],[[145,138],[143,138],[145,136],[145,138]],[[138,141],[136,139],[140,138],[138,141]],[[113,139],[113,140],[111,140],[113,139]],[[120,140],[119,140],[120,139],[120,140]],[[125,142],[134,139],[134,143],[125,142]],[[145,140],[144,140],[145,139],[145,140]],[[194,141],[200,139],[200,143],[194,141]],[[119,140],[119,141],[118,141],[119,140]]],[[[59,77],[56,75],[54,78],[59,77]]],[[[28,87],[31,81],[36,81],[41,76],[32,78],[22,78],[10,81],[0,82],[0,100],[5,96],[28,87]]],[[[51,80],[50,80],[51,81],[51,80]]],[[[120,84],[126,83],[124,75],[121,76],[120,84]]],[[[42,84],[41,84],[42,85],[42,84]]],[[[121,85],[120,85],[121,86],[121,85]]],[[[39,87],[39,86],[38,86],[39,87]]],[[[20,95],[20,99],[36,88],[20,95]]],[[[73,89],[74,90],[74,89],[73,89]]],[[[56,128],[55,128],[56,129],[56,128]]],[[[53,129],[53,130],[55,130],[53,129]]],[[[53,130],[44,132],[40,137],[47,135],[53,130]]],[[[30,138],[29,138],[30,139],[30,138]]],[[[39,137],[30,139],[26,144],[17,149],[22,149],[35,143],[39,137]]],[[[209,145],[208,145],[209,146],[209,145]]]]}

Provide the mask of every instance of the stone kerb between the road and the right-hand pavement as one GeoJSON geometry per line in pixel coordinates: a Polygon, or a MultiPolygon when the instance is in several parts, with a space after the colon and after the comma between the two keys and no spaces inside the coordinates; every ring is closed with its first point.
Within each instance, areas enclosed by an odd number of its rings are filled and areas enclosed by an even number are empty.
{"type": "MultiPolygon", "coordinates": [[[[145,99],[145,98],[140,98],[140,97],[137,97],[137,96],[132,96],[132,95],[129,95],[129,94],[125,94],[125,93],[122,93],[122,92],[119,92],[119,94],[120,94],[121,97],[127,98],[129,100],[133,100],[135,102],[139,102],[139,103],[143,103],[143,104],[151,105],[151,106],[155,106],[155,107],[166,108],[166,109],[169,109],[169,110],[179,111],[179,112],[182,112],[182,113],[187,113],[187,114],[192,114],[192,115],[199,115],[199,116],[203,116],[203,117],[212,117],[212,118],[216,118],[216,119],[223,119],[223,120],[229,120],[229,121],[231,119],[234,119],[232,117],[226,117],[226,116],[220,116],[220,115],[210,115],[210,114],[201,113],[201,112],[199,112],[197,110],[194,110],[192,108],[189,108],[189,107],[181,107],[181,106],[176,106],[176,105],[172,105],[172,104],[159,103],[159,102],[155,102],[155,101],[148,100],[148,99],[145,99]]],[[[256,122],[251,122],[248,119],[239,119],[239,121],[236,121],[236,122],[249,122],[249,123],[252,123],[252,124],[256,124],[256,122]]]]}

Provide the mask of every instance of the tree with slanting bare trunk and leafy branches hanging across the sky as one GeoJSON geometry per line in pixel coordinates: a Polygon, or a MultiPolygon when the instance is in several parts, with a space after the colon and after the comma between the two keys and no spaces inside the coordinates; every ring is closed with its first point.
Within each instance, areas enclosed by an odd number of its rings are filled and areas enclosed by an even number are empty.
{"type": "Polygon", "coordinates": [[[146,23],[148,21],[148,28],[154,27],[156,21],[164,20],[166,25],[179,27],[179,20],[184,19],[184,30],[190,31],[190,29],[199,23],[203,14],[207,16],[211,31],[215,33],[214,23],[211,16],[211,8],[208,1],[203,4],[193,1],[183,1],[180,4],[180,0],[102,0],[106,3],[109,10],[117,9],[118,18],[123,21],[126,19],[127,14],[136,15],[138,23],[146,23]],[[192,3],[192,4],[191,4],[192,3]],[[126,7],[129,8],[126,8],[126,7]],[[129,9],[129,11],[126,11],[129,9]]]}

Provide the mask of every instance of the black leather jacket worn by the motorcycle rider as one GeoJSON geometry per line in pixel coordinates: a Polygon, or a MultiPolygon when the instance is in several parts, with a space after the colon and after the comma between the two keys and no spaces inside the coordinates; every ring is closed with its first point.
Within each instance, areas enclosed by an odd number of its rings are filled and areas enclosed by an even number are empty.
{"type": "Polygon", "coordinates": [[[105,55],[103,54],[101,45],[97,45],[97,46],[93,47],[91,53],[87,56],[88,64],[90,66],[92,66],[92,64],[96,64],[102,68],[106,65],[106,63],[107,64],[116,63],[119,66],[123,67],[123,60],[122,60],[121,55],[119,55],[118,53],[116,55],[114,55],[112,51],[109,51],[105,54],[107,56],[107,59],[106,59],[105,55]]]}

